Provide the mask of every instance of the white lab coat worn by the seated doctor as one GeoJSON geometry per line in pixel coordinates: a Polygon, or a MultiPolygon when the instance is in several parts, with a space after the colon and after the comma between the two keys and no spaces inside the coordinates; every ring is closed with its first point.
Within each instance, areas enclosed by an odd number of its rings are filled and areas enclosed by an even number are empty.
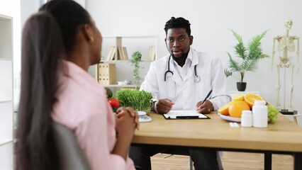
{"type": "Polygon", "coordinates": [[[192,61],[186,77],[181,79],[171,57],[169,61],[170,71],[174,74],[167,73],[166,81],[164,81],[164,73],[168,70],[169,56],[166,55],[150,64],[150,69],[145,81],[140,86],[140,90],[152,93],[153,98],[158,100],[169,98],[174,101],[173,110],[195,110],[196,103],[203,101],[211,89],[213,92],[209,100],[213,103],[215,111],[230,102],[230,96],[226,92],[226,77],[218,57],[204,52],[196,52],[191,47],[188,57],[191,57],[192,61]],[[200,77],[199,82],[194,81],[195,65],[196,73],[200,77]]]}

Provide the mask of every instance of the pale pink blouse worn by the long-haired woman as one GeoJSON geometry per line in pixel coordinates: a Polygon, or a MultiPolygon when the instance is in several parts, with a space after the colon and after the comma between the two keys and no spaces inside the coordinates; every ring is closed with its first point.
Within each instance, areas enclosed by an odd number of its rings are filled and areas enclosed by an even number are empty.
{"type": "Polygon", "coordinates": [[[52,119],[72,130],[91,169],[134,170],[133,161],[111,154],[116,144],[116,120],[106,91],[76,64],[64,61],[52,119]]]}

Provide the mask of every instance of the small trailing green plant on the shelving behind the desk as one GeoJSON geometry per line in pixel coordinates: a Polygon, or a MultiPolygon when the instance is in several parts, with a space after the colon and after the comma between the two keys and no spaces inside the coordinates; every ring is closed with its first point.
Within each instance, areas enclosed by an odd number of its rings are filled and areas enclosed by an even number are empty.
{"type": "Polygon", "coordinates": [[[130,62],[134,67],[133,69],[133,77],[134,83],[136,85],[136,89],[140,89],[140,60],[142,59],[142,54],[139,51],[133,52],[130,62]]]}

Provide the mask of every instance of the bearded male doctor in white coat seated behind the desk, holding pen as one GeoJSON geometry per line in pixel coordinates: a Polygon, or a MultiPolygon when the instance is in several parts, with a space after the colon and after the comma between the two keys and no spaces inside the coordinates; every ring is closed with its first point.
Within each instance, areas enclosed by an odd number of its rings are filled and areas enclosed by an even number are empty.
{"type": "MultiPolygon", "coordinates": [[[[164,114],[171,110],[196,110],[211,113],[230,102],[226,77],[218,57],[196,52],[191,45],[191,23],[172,17],[164,26],[169,54],[152,62],[140,90],[152,93],[153,110],[164,114]],[[203,102],[209,91],[213,91],[203,102]],[[203,104],[202,104],[203,103],[203,104]]],[[[218,152],[203,149],[172,149],[169,146],[133,146],[129,157],[136,166],[151,169],[150,157],[157,153],[186,154],[196,170],[223,169],[218,152]]]]}

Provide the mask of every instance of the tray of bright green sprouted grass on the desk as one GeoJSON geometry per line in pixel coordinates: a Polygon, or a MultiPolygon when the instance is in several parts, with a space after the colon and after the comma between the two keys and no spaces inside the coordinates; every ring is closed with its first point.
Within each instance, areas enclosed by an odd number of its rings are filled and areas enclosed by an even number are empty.
{"type": "Polygon", "coordinates": [[[121,106],[130,106],[135,111],[149,112],[152,106],[152,94],[146,91],[122,89],[120,91],[116,91],[113,98],[118,99],[121,106]]]}

